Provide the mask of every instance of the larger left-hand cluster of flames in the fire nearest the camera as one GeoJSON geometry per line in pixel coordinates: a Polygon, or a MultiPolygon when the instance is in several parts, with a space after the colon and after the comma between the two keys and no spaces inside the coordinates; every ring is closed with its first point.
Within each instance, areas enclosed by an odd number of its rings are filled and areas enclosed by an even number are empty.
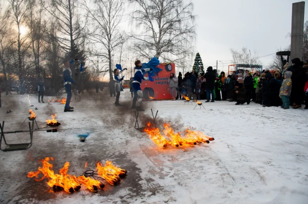
{"type": "Polygon", "coordinates": [[[35,181],[42,181],[47,178],[47,185],[56,190],[66,191],[67,193],[73,193],[75,191],[79,191],[81,188],[80,184],[85,185],[90,191],[97,192],[98,188],[103,189],[105,187],[104,184],[100,183],[97,180],[86,178],[85,176],[72,176],[67,174],[69,162],[64,164],[64,167],[60,169],[60,174],[54,174],[52,170],[52,164],[49,163],[49,159],[53,160],[53,158],[46,157],[45,159],[39,160],[42,162],[42,167],[38,167],[38,171],[36,172],[28,172],[27,177],[35,177],[35,181]],[[43,174],[41,179],[38,179],[38,175],[43,174]]]}

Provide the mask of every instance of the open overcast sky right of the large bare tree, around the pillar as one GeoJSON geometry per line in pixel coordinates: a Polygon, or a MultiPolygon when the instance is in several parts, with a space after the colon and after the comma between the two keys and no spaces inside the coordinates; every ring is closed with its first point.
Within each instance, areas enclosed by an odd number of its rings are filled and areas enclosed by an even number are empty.
{"type": "MultiPolygon", "coordinates": [[[[198,16],[196,51],[206,67],[223,61],[224,70],[232,60],[230,48],[243,46],[265,56],[291,43],[293,0],[192,0],[198,16]],[[213,63],[212,63],[213,62],[213,63]]],[[[308,20],[308,3],[305,5],[308,20]]],[[[267,67],[272,56],[260,59],[267,67]]],[[[222,68],[222,63],[218,64],[222,68]]]]}

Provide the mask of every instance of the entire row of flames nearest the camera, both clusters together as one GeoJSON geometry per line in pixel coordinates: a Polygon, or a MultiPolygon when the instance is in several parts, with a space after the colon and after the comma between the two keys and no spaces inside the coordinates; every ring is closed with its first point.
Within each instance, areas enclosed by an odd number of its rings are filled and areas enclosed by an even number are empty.
{"type": "MultiPolygon", "coordinates": [[[[42,167],[38,167],[36,172],[28,172],[27,177],[35,177],[35,181],[42,181],[45,178],[48,179],[47,185],[53,188],[54,191],[64,190],[67,193],[74,193],[80,190],[81,185],[84,185],[87,189],[92,192],[97,192],[98,189],[103,189],[105,185],[98,180],[91,179],[84,175],[76,177],[67,174],[69,162],[64,164],[64,167],[59,170],[60,174],[54,174],[52,170],[52,164],[49,163],[50,160],[54,160],[52,157],[46,157],[45,159],[39,160],[42,162],[42,167]],[[39,175],[43,176],[39,179],[39,175]]],[[[85,168],[87,166],[87,162],[85,168]]],[[[126,177],[126,170],[112,165],[111,161],[106,161],[106,164],[102,165],[100,162],[97,163],[97,169],[99,170],[99,175],[102,176],[109,184],[116,185],[121,182],[119,178],[126,177]],[[111,182],[113,181],[113,182],[111,182]],[[115,182],[115,183],[114,183],[115,182]]]]}

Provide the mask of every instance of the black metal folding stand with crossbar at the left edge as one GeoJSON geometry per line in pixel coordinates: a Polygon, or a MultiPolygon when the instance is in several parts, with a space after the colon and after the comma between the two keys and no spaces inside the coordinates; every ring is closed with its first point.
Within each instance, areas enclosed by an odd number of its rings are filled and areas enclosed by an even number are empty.
{"type": "Polygon", "coordinates": [[[33,132],[35,131],[47,131],[47,132],[57,132],[57,129],[40,129],[40,130],[33,130],[31,129],[31,124],[30,122],[28,122],[29,124],[29,130],[17,130],[17,131],[8,131],[8,132],[3,132],[3,128],[4,128],[4,121],[2,122],[2,124],[0,123],[0,129],[1,129],[1,137],[0,137],[0,150],[3,152],[7,152],[7,151],[16,151],[16,150],[26,150],[29,149],[32,146],[32,137],[33,137],[33,132]],[[30,133],[30,142],[29,143],[18,143],[18,144],[7,144],[6,140],[5,140],[5,136],[4,134],[11,134],[11,133],[20,133],[20,132],[29,132],[30,133]],[[2,138],[3,141],[5,143],[5,145],[7,145],[8,147],[5,149],[1,148],[1,144],[2,144],[2,138]]]}

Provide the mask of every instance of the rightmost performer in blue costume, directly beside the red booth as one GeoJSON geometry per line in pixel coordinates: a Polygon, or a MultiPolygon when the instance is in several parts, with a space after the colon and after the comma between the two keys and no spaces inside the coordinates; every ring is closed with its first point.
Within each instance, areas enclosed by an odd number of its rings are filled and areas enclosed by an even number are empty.
{"type": "Polygon", "coordinates": [[[146,81],[149,80],[148,77],[144,77],[143,72],[148,72],[152,69],[142,69],[142,63],[140,60],[137,60],[135,62],[135,66],[136,66],[135,69],[137,70],[137,72],[134,75],[134,81],[132,83],[134,92],[135,92],[132,109],[136,108],[137,111],[145,111],[144,109],[141,108],[141,103],[144,97],[142,93],[142,89],[141,89],[141,83],[142,83],[142,80],[146,80],[146,81]]]}

